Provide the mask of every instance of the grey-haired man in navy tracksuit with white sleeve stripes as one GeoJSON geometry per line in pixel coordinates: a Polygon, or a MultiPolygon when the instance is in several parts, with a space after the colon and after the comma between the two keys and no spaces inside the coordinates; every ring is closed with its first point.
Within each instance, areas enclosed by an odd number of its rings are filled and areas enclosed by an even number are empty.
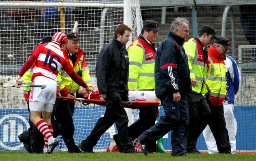
{"type": "Polygon", "coordinates": [[[155,56],[155,92],[165,116],[139,136],[141,150],[148,155],[148,143],[171,130],[172,156],[186,155],[189,105],[186,93],[192,90],[189,64],[182,44],[189,35],[189,21],[176,18],[171,31],[157,48],[155,56]]]}

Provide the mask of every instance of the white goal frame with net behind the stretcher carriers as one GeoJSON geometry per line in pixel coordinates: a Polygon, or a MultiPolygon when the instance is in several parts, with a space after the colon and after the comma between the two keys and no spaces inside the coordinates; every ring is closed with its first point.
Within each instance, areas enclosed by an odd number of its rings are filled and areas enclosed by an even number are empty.
{"type": "MultiPolygon", "coordinates": [[[[0,150],[25,150],[17,138],[29,127],[23,89],[3,88],[2,85],[15,80],[43,36],[52,36],[54,32],[72,32],[75,21],[78,21],[76,33],[82,38],[80,48],[85,51],[93,85],[97,89],[97,57],[101,48],[112,41],[116,26],[125,23],[132,28],[132,41],[143,25],[139,0],[9,0],[0,2],[0,17],[0,150]]],[[[104,111],[102,106],[80,107],[77,104],[73,116],[76,144],[89,135],[104,111]]],[[[137,119],[138,110],[127,112],[130,123],[137,119]]],[[[93,150],[106,150],[115,133],[117,130],[113,125],[93,150]]],[[[65,150],[63,141],[56,148],[61,149],[65,150]]]]}

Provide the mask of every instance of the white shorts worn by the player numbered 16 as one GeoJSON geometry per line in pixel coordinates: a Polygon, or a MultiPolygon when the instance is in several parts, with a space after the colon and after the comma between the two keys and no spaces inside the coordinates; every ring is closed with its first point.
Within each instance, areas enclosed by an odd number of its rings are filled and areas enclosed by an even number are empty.
{"type": "Polygon", "coordinates": [[[40,87],[32,87],[29,96],[29,102],[39,101],[44,104],[50,103],[55,104],[57,83],[51,78],[45,76],[35,77],[33,85],[46,85],[45,89],[40,87]]]}

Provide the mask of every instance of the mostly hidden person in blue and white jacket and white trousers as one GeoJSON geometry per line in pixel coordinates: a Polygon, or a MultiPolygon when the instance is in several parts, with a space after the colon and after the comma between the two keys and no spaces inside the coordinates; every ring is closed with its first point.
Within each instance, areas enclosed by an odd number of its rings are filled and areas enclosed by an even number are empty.
{"type": "MultiPolygon", "coordinates": [[[[223,102],[224,117],[226,121],[226,128],[228,130],[228,136],[231,145],[231,153],[236,153],[236,133],[235,133],[235,118],[234,118],[234,95],[237,93],[241,81],[241,73],[236,65],[236,61],[229,55],[226,55],[224,60],[228,69],[227,86],[228,86],[228,97],[230,100],[223,102]]],[[[209,126],[205,129],[205,142],[209,150],[209,154],[217,154],[216,141],[211,133],[209,126]]]]}

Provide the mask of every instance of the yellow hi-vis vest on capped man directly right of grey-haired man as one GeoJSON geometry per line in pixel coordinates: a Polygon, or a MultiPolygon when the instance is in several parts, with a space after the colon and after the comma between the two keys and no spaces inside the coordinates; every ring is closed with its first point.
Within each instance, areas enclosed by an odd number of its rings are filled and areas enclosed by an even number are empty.
{"type": "Polygon", "coordinates": [[[198,40],[191,38],[184,43],[183,47],[188,56],[190,78],[195,79],[197,82],[197,86],[192,86],[192,91],[203,94],[207,93],[205,78],[208,64],[205,63],[207,58],[204,57],[202,49],[197,49],[197,47],[201,46],[199,43],[201,43],[200,40],[198,42],[198,40]]]}

